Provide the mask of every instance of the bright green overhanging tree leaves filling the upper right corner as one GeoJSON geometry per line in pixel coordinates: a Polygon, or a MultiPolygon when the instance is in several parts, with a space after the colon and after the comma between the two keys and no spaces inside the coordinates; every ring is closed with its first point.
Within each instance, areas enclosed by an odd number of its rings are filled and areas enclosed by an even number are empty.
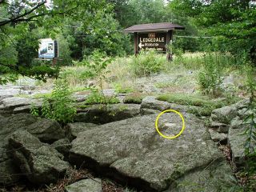
{"type": "Polygon", "coordinates": [[[216,37],[212,47],[229,51],[235,57],[246,54],[246,60],[255,62],[256,31],[255,3],[249,0],[222,0],[204,3],[201,0],[174,0],[170,2],[175,14],[193,18],[202,34],[216,37]]]}

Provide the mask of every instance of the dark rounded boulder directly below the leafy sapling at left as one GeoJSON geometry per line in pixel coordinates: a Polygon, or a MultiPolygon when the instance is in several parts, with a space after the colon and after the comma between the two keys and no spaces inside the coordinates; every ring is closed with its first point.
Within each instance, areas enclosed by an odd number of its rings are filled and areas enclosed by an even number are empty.
{"type": "Polygon", "coordinates": [[[39,138],[42,142],[55,142],[58,139],[65,138],[65,131],[62,127],[52,119],[41,118],[37,122],[34,122],[30,126],[26,127],[26,130],[39,138]]]}

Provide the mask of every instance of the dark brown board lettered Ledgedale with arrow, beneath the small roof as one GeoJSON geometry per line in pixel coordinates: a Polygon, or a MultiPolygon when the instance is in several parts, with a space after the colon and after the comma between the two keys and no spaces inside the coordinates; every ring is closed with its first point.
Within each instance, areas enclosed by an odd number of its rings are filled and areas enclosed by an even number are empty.
{"type": "Polygon", "coordinates": [[[138,34],[138,51],[166,52],[166,33],[138,34]]]}

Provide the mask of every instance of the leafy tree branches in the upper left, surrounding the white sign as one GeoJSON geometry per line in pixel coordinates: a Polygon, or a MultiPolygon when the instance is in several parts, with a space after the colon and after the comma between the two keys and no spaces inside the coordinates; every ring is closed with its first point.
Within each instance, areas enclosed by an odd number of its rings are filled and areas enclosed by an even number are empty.
{"type": "MultiPolygon", "coordinates": [[[[11,47],[15,49],[11,49],[10,54],[14,54],[10,57],[6,58],[6,54],[0,54],[1,74],[22,74],[44,81],[46,78],[58,77],[58,69],[48,65],[34,66],[34,58],[38,57],[38,38],[54,38],[56,34],[60,34],[62,26],[65,25],[64,15],[65,19],[79,22],[80,27],[87,29],[90,22],[98,21],[102,13],[110,10],[104,0],[54,0],[51,6],[46,5],[46,2],[0,2],[0,52],[11,47]]],[[[70,50],[65,41],[62,38],[61,57],[63,62],[70,63],[70,50]]],[[[7,76],[1,78],[1,83],[8,81],[13,79],[7,76]]]]}

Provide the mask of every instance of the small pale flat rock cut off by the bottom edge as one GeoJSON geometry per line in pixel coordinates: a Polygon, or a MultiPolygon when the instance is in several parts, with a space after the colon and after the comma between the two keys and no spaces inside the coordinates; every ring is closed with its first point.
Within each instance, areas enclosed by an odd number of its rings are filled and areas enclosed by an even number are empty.
{"type": "Polygon", "coordinates": [[[99,178],[83,179],[66,186],[67,192],[102,192],[102,181],[99,178]]]}

